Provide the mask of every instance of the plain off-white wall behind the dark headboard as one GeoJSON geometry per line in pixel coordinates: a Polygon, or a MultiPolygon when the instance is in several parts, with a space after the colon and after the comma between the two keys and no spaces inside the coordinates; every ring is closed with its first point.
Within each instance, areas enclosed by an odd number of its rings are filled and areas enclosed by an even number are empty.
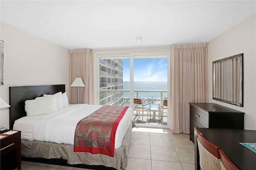
{"type": "MultiPolygon", "coordinates": [[[[9,103],[8,86],[16,86],[15,83],[66,84],[68,93],[68,49],[3,22],[0,33],[0,39],[4,41],[5,84],[0,87],[0,95],[4,101],[9,103]]],[[[9,127],[9,109],[1,109],[0,125],[9,127]]]]}

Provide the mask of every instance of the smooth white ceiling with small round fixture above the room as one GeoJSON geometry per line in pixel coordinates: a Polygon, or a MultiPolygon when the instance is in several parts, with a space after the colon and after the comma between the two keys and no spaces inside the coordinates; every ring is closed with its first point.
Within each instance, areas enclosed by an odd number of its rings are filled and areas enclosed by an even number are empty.
{"type": "Polygon", "coordinates": [[[256,1],[0,1],[0,18],[68,49],[209,42],[256,1]],[[136,37],[143,38],[136,43],[136,37]]]}

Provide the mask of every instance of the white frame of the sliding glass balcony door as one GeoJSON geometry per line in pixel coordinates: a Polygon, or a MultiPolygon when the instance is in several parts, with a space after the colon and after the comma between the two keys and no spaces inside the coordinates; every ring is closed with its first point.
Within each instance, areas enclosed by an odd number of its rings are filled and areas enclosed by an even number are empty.
{"type": "MultiPolygon", "coordinates": [[[[167,125],[152,125],[152,124],[136,124],[136,127],[151,127],[151,128],[166,128],[170,129],[170,51],[153,51],[153,52],[130,52],[130,53],[102,53],[96,54],[96,75],[100,75],[100,58],[129,58],[130,59],[130,107],[134,110],[134,56],[149,56],[149,55],[166,55],[167,57],[167,125]]],[[[96,104],[100,104],[100,79],[96,78],[96,104]]]]}

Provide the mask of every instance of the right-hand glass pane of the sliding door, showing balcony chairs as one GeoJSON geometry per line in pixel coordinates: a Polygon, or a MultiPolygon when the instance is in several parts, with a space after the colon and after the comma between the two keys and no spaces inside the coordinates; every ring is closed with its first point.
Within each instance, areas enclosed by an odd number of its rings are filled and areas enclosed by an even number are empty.
{"type": "Polygon", "coordinates": [[[134,98],[142,100],[143,115],[137,114],[134,121],[139,125],[167,125],[167,55],[134,56],[134,98]],[[162,110],[164,109],[164,111],[162,110]]]}

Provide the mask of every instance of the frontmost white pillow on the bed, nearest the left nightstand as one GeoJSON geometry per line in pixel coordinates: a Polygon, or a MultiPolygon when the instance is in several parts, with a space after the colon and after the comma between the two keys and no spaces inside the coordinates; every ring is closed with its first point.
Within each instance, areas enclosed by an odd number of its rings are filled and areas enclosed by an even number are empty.
{"type": "Polygon", "coordinates": [[[55,97],[44,97],[25,101],[27,116],[47,115],[57,111],[55,97]]]}

